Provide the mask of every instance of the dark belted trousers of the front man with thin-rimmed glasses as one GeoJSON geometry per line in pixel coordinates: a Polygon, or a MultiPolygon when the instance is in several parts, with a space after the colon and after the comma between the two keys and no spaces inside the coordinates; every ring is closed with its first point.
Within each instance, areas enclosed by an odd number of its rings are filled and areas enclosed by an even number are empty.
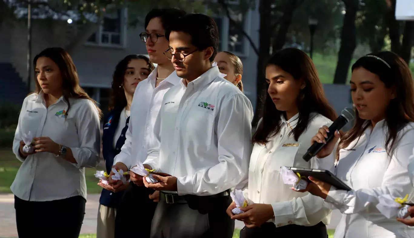
{"type": "Polygon", "coordinates": [[[234,220],[226,214],[230,196],[183,196],[185,203],[167,204],[160,196],[151,238],[232,238],[234,220]]]}

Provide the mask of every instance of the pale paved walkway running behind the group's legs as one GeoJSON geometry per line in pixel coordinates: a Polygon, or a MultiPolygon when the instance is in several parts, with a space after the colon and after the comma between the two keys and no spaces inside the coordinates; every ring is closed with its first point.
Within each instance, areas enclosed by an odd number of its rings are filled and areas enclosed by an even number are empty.
{"type": "MultiPolygon", "coordinates": [[[[99,194],[88,194],[82,234],[96,233],[96,217],[98,215],[99,194]]],[[[340,213],[332,213],[328,229],[335,229],[340,219],[340,213]]],[[[243,228],[243,222],[236,221],[236,228],[243,228]]],[[[17,237],[16,217],[14,215],[13,194],[0,194],[0,237],[17,237]]]]}

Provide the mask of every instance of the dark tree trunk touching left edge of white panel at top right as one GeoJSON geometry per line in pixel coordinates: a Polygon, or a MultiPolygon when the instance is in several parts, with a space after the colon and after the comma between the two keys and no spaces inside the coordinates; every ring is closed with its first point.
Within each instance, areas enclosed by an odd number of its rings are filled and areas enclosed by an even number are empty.
{"type": "Polygon", "coordinates": [[[400,23],[397,21],[397,19],[395,19],[395,4],[396,0],[387,1],[388,11],[386,14],[386,19],[391,40],[391,51],[396,54],[400,54],[400,23]]]}

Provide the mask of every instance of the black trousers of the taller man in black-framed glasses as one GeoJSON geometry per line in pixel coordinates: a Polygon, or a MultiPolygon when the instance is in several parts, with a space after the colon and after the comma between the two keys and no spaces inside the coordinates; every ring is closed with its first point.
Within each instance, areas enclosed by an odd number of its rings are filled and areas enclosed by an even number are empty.
{"type": "Polygon", "coordinates": [[[152,193],[154,189],[130,183],[117,207],[115,238],[149,238],[151,221],[157,205],[148,197],[152,193]]]}

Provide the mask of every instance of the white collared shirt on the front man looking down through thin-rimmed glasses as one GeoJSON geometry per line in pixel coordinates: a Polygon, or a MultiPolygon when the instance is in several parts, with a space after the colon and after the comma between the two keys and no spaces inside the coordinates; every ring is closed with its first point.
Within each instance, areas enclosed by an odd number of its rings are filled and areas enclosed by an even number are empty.
{"type": "Polygon", "coordinates": [[[253,108],[248,98],[210,68],[169,90],[145,164],[177,177],[179,195],[206,196],[247,179],[253,108]]]}

